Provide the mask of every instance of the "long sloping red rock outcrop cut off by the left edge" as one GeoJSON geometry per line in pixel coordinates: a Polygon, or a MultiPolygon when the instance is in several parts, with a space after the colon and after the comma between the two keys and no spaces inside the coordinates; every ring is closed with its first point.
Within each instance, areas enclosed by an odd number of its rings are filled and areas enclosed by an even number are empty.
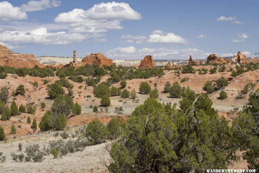
{"type": "Polygon", "coordinates": [[[0,65],[15,68],[32,68],[35,65],[44,67],[35,58],[33,54],[20,54],[12,52],[7,47],[0,44],[0,65]]]}

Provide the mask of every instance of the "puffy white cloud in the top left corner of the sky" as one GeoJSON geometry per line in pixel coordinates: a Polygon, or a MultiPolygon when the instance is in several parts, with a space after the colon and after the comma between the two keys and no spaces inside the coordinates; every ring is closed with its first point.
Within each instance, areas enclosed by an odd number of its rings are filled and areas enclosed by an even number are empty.
{"type": "Polygon", "coordinates": [[[27,19],[26,12],[7,1],[0,2],[0,21],[27,19]]]}

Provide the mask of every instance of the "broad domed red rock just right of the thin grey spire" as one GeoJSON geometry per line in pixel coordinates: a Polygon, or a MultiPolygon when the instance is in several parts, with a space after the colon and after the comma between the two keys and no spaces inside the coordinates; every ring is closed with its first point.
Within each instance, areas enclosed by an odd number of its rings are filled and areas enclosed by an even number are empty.
{"type": "Polygon", "coordinates": [[[100,64],[100,67],[105,65],[114,65],[112,59],[108,59],[104,54],[98,52],[96,54],[86,55],[81,62],[78,62],[76,67],[80,67],[86,64],[93,65],[94,63],[100,64]]]}

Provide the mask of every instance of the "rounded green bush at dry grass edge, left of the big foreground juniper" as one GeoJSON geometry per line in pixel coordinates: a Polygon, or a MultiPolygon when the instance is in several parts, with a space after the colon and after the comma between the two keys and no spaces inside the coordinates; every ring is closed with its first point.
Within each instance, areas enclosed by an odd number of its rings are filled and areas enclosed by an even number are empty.
{"type": "Polygon", "coordinates": [[[91,121],[85,129],[85,136],[92,145],[104,142],[105,133],[105,125],[103,125],[97,118],[91,121]]]}

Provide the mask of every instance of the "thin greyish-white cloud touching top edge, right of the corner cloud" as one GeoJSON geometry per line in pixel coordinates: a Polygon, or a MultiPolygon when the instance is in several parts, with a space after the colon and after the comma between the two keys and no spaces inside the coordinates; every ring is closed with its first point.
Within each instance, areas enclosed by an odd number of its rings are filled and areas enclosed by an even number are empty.
{"type": "Polygon", "coordinates": [[[26,4],[22,4],[20,9],[25,12],[35,12],[41,10],[47,10],[48,8],[58,7],[61,5],[61,1],[57,0],[41,0],[34,1],[31,0],[26,4]]]}

